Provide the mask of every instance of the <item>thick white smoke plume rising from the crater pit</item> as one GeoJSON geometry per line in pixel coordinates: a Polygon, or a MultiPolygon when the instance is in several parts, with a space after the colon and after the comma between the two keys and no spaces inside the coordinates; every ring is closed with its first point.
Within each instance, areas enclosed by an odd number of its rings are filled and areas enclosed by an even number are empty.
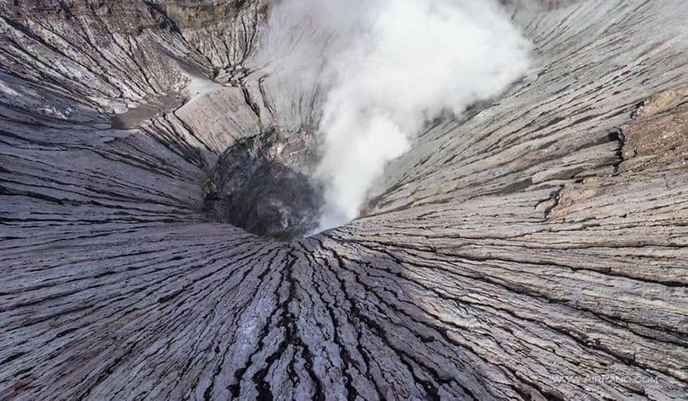
{"type": "Polygon", "coordinates": [[[283,76],[324,89],[321,229],[358,215],[425,122],[499,95],[528,67],[528,43],[493,0],[283,0],[270,30],[283,76]]]}

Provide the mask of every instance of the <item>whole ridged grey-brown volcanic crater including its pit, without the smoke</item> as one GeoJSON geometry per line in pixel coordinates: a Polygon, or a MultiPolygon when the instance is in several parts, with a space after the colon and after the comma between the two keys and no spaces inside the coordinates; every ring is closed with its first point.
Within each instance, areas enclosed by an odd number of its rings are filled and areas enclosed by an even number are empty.
{"type": "Polygon", "coordinates": [[[0,400],[686,400],[688,2],[480,3],[528,68],[315,233],[277,1],[0,0],[0,400]]]}

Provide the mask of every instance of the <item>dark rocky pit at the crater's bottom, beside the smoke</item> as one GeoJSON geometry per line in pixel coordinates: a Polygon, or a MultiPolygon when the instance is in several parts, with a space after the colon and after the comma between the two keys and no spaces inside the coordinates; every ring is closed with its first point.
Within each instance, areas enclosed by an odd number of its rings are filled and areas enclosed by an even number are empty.
{"type": "Polygon", "coordinates": [[[318,161],[310,129],[275,128],[241,139],[217,160],[203,183],[204,211],[259,236],[289,241],[318,227],[322,188],[311,178],[318,161]]]}

